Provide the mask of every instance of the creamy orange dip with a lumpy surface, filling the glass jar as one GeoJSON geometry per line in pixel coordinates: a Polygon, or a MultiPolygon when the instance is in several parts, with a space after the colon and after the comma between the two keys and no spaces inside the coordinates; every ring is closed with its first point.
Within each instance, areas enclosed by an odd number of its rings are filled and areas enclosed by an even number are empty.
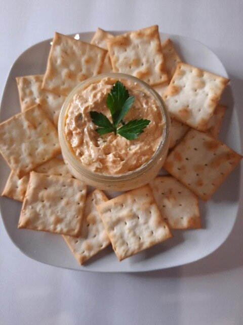
{"type": "MultiPolygon", "coordinates": [[[[76,93],[69,104],[65,120],[65,137],[72,152],[90,171],[103,175],[118,175],[134,171],[146,164],[161,141],[164,121],[159,104],[153,96],[137,83],[120,79],[135,101],[123,119],[148,119],[149,125],[136,140],[127,140],[109,133],[100,136],[92,122],[91,111],[111,115],[106,96],[116,80],[104,78],[76,93]]],[[[121,126],[122,124],[120,124],[121,126]]]]}

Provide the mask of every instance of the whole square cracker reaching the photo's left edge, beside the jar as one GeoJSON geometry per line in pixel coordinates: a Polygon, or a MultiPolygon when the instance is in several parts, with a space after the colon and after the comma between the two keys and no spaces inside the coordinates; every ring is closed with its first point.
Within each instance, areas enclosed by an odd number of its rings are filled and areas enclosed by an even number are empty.
{"type": "Polygon", "coordinates": [[[0,124],[0,152],[20,178],[61,152],[57,129],[40,105],[0,124]]]}

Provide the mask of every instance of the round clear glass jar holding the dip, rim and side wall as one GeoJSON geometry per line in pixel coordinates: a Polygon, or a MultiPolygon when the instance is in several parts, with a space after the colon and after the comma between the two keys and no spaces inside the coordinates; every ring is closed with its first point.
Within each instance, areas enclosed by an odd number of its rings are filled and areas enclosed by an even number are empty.
{"type": "Polygon", "coordinates": [[[170,116],[161,97],[147,83],[130,75],[120,73],[107,73],[97,75],[83,81],[70,92],[60,112],[58,121],[58,134],[64,161],[67,167],[69,168],[71,174],[75,178],[84,181],[87,185],[91,185],[99,189],[124,191],[147,184],[158,174],[159,170],[163,166],[167,156],[170,142],[170,116]],[[126,79],[137,83],[139,86],[141,86],[141,88],[145,89],[149,94],[151,94],[156,100],[161,112],[162,120],[164,122],[163,133],[161,135],[161,142],[158,145],[157,150],[155,151],[153,156],[151,156],[150,160],[148,160],[147,163],[142,165],[140,168],[133,171],[129,171],[124,174],[103,175],[101,173],[95,173],[90,171],[82,164],[80,159],[75,155],[65,137],[65,120],[73,96],[77,92],[82,91],[82,89],[87,88],[87,86],[89,86],[90,84],[97,83],[104,78],[111,78],[114,80],[126,79]]]}

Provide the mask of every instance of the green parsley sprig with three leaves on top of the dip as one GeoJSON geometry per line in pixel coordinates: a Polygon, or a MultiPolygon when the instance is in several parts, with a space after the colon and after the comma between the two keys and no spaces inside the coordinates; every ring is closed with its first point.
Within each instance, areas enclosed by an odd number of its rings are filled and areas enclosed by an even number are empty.
{"type": "Polygon", "coordinates": [[[104,114],[96,111],[90,112],[92,121],[99,126],[96,132],[100,135],[114,132],[115,135],[119,134],[128,140],[137,139],[138,135],[143,133],[143,129],[148,126],[150,121],[147,119],[135,119],[128,123],[123,121],[124,116],[133,106],[134,100],[135,96],[129,96],[129,92],[123,83],[116,81],[106,98],[112,123],[104,114]],[[119,127],[120,124],[123,126],[119,127]]]}

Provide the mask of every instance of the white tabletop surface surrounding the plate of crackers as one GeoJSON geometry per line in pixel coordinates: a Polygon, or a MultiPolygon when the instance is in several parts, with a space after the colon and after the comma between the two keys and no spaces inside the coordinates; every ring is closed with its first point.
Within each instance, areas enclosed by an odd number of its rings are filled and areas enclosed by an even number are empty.
{"type": "MultiPolygon", "coordinates": [[[[157,23],[160,31],[194,38],[219,56],[243,123],[242,1],[0,0],[0,12],[1,95],[15,59],[55,30],[71,34],[157,23]]],[[[32,261],[11,243],[0,221],[0,324],[241,325],[242,214],[241,202],[231,235],[210,256],[143,274],[76,272],[32,261]]]]}

